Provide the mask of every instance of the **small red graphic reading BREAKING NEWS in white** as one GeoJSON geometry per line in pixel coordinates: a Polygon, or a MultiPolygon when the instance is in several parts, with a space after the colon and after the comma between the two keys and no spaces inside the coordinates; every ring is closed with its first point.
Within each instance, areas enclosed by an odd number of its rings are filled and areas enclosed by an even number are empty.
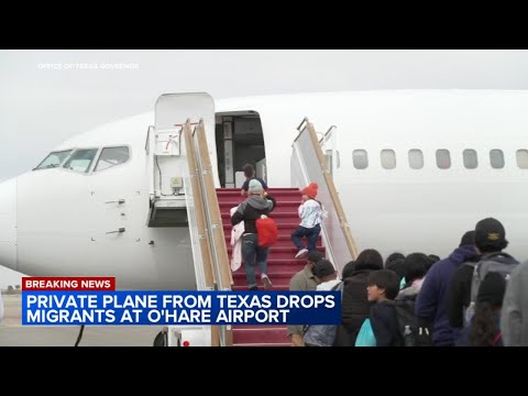
{"type": "Polygon", "coordinates": [[[116,290],[114,277],[22,277],[22,290],[116,290]]]}

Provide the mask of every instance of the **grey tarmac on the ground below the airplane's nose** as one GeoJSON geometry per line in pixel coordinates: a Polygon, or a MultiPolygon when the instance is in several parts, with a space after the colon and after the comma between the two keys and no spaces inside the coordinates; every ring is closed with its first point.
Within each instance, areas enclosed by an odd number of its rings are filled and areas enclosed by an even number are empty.
{"type": "MultiPolygon", "coordinates": [[[[2,293],[0,346],[74,346],[79,326],[22,326],[22,295],[2,293]]],[[[152,346],[161,326],[87,326],[79,346],[152,346]]]]}

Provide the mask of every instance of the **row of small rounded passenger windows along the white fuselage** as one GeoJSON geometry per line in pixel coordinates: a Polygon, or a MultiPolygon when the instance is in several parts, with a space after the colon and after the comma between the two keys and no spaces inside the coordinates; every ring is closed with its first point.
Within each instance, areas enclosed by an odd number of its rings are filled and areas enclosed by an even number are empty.
{"type": "MultiPolygon", "coordinates": [[[[462,152],[462,158],[466,169],[475,169],[479,167],[479,155],[475,150],[464,150],[462,152]]],[[[440,169],[449,169],[451,167],[451,153],[449,150],[437,150],[436,160],[437,166],[440,169]]],[[[366,150],[354,150],[352,161],[356,169],[366,169],[369,167],[369,153],[366,150]]],[[[396,153],[394,150],[382,150],[381,162],[385,169],[394,169],[396,167],[396,153]]],[[[424,153],[421,150],[409,150],[408,162],[413,169],[421,169],[424,167],[424,153]]],[[[502,150],[494,148],[490,151],[490,164],[494,169],[502,169],[504,167],[505,162],[502,150]]],[[[517,150],[517,166],[520,169],[528,169],[528,150],[517,150]]]]}

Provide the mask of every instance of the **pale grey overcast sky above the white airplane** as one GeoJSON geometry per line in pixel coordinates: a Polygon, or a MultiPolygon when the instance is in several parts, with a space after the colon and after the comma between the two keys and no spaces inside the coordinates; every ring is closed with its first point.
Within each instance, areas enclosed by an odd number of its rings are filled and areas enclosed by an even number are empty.
{"type": "Polygon", "coordinates": [[[527,70],[528,51],[0,51],[0,182],[166,92],[527,89],[527,70]],[[103,68],[120,63],[135,67],[103,68]]]}

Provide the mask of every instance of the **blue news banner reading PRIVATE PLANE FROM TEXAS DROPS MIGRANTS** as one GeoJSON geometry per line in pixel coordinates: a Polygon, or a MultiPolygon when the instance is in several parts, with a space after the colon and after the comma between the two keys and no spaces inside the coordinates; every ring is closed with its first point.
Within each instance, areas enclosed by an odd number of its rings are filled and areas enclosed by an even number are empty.
{"type": "Polygon", "coordinates": [[[22,292],[22,324],[339,324],[340,292],[22,292]]]}

